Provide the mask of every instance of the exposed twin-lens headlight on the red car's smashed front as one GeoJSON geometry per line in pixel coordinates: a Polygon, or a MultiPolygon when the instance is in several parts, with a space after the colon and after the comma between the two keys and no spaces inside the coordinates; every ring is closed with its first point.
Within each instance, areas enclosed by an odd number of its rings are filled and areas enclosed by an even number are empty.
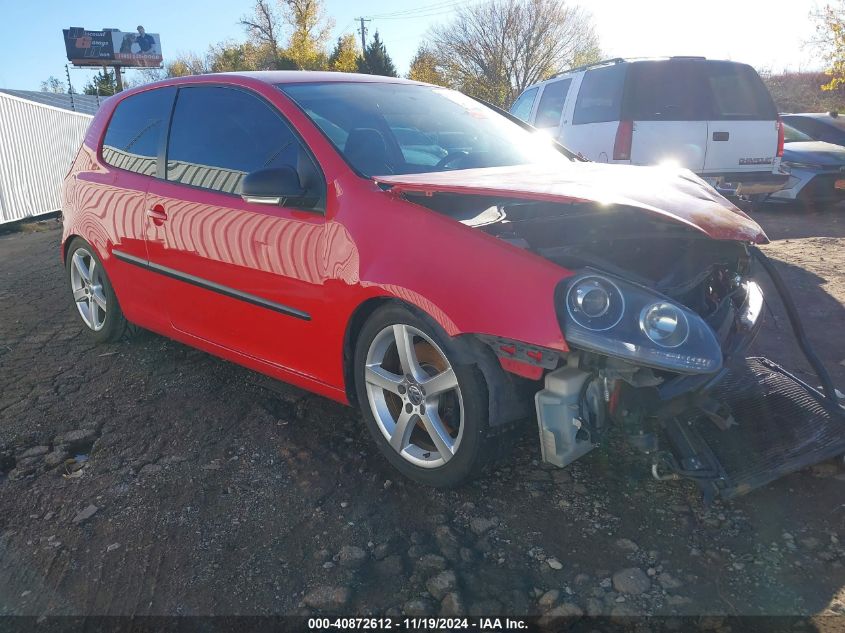
{"type": "MultiPolygon", "coordinates": [[[[575,347],[679,373],[722,366],[722,348],[698,314],[653,290],[593,272],[567,280],[563,330],[575,347]]],[[[559,304],[560,305],[560,304],[559,304]]]]}

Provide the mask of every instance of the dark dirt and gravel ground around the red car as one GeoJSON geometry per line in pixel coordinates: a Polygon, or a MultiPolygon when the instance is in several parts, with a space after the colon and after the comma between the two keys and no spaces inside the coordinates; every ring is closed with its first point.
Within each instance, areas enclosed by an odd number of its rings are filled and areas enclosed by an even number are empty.
{"type": "MultiPolygon", "coordinates": [[[[845,209],[757,219],[845,391],[845,209]]],[[[92,345],[59,237],[0,236],[0,614],[845,614],[841,462],[705,507],[614,442],[547,469],[529,428],[422,488],[352,409],[152,334],[92,345]]],[[[817,384],[765,317],[755,352],[817,384]]]]}

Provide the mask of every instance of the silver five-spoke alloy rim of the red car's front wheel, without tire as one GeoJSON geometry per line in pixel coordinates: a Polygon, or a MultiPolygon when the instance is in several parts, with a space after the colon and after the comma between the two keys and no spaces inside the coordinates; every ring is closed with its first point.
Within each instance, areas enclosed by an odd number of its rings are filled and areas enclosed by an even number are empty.
{"type": "Polygon", "coordinates": [[[405,324],[381,330],[367,351],[364,380],[373,416],[393,450],[423,468],[455,456],[464,430],[460,386],[429,336],[405,324]]]}

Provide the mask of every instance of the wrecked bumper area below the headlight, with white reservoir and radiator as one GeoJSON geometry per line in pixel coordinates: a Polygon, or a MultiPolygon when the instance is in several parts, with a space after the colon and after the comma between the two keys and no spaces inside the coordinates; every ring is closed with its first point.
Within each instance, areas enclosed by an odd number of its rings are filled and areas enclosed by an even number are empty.
{"type": "Polygon", "coordinates": [[[651,456],[656,478],[691,479],[706,498],[727,499],[845,454],[845,408],[809,347],[785,284],[762,253],[754,254],[825,393],[768,359],[746,358],[763,306],[759,286],[747,282],[729,331],[717,332],[724,361],[717,371],[637,374],[630,362],[576,351],[547,373],[535,395],[543,460],[568,465],[599,444],[613,422],[651,456]]]}

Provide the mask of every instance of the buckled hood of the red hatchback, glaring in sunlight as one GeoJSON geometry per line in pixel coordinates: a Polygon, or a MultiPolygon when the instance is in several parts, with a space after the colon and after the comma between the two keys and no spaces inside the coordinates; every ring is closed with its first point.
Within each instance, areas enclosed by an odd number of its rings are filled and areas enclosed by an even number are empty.
{"type": "Polygon", "coordinates": [[[396,193],[456,193],[641,209],[717,240],[765,244],[762,228],[686,169],[573,162],[375,176],[396,193]]]}

